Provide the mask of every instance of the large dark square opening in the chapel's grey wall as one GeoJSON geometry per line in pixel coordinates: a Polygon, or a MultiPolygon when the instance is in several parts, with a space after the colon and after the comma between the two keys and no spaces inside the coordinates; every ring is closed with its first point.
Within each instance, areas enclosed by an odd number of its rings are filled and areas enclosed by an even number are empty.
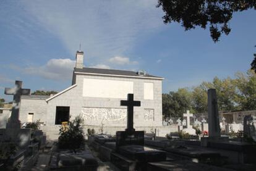
{"type": "Polygon", "coordinates": [[[56,106],[55,125],[69,121],[69,106],[56,106]]]}

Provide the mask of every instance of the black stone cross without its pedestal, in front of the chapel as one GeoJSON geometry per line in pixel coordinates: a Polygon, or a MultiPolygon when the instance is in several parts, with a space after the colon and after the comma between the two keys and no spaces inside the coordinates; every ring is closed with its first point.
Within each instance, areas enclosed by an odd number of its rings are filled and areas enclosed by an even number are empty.
{"type": "Polygon", "coordinates": [[[134,129],[134,106],[140,106],[140,101],[134,101],[134,94],[127,95],[127,101],[121,101],[121,106],[127,106],[127,128],[126,131],[133,132],[134,129]]]}

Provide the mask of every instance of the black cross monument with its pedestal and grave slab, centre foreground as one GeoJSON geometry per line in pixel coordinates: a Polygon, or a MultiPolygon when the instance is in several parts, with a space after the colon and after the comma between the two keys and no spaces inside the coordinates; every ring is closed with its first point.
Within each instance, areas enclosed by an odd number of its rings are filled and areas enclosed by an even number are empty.
{"type": "Polygon", "coordinates": [[[140,106],[140,101],[134,101],[134,94],[128,94],[128,100],[121,101],[121,106],[127,106],[127,128],[116,132],[117,153],[111,153],[111,161],[125,170],[145,170],[147,162],[165,161],[166,152],[145,147],[144,131],[134,129],[134,106],[140,106]]]}

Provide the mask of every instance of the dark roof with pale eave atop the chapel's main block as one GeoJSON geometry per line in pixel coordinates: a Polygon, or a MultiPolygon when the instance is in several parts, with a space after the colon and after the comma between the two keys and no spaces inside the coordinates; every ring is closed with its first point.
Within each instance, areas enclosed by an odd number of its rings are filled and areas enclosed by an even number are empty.
{"type": "Polygon", "coordinates": [[[95,69],[84,67],[83,69],[74,68],[75,73],[89,74],[89,75],[112,75],[112,76],[121,76],[121,77],[137,77],[137,78],[151,78],[163,80],[163,77],[157,77],[154,75],[139,75],[137,72],[128,71],[128,70],[111,70],[111,69],[95,69]]]}

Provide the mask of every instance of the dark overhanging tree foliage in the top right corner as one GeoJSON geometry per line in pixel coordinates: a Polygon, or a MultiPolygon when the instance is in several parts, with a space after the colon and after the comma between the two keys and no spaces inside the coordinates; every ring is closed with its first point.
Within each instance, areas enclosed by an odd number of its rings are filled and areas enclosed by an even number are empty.
{"type": "Polygon", "coordinates": [[[162,7],[164,23],[181,23],[186,31],[210,25],[211,38],[216,43],[221,34],[228,35],[231,31],[228,22],[233,13],[256,9],[256,0],[158,0],[156,7],[162,7]]]}

